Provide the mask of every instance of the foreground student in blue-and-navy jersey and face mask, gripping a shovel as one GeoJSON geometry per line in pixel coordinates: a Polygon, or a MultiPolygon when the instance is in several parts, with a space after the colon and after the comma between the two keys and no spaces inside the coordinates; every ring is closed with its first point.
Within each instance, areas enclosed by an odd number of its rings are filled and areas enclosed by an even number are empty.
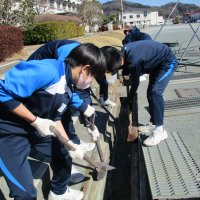
{"type": "Polygon", "coordinates": [[[84,152],[68,141],[67,150],[49,130],[55,126],[68,140],[61,116],[72,93],[71,84],[85,87],[91,77],[102,76],[105,58],[93,44],[75,47],[66,62],[44,59],[21,62],[0,80],[0,170],[15,200],[36,200],[37,192],[27,156],[35,149],[51,158],[53,171],[48,200],[81,200],[83,193],[68,187],[71,158],[84,152]]]}

